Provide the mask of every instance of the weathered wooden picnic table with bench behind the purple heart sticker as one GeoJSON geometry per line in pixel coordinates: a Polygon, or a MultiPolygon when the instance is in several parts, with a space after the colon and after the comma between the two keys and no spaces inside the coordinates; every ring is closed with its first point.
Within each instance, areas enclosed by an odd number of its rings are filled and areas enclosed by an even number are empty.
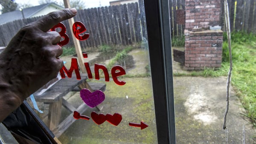
{"type": "MultiPolygon", "coordinates": [[[[56,137],[59,137],[75,121],[73,118],[74,111],[83,113],[89,108],[84,102],[78,108],[74,107],[63,98],[67,93],[71,91],[79,92],[83,88],[89,89],[91,92],[97,89],[102,92],[105,91],[106,84],[87,83],[86,80],[87,75],[84,74],[81,75],[81,80],[77,80],[75,75],[73,75],[72,78],[52,80],[53,84],[50,87],[48,86],[48,89],[44,90],[44,88],[41,88],[34,93],[37,101],[49,104],[48,127],[56,137]],[[60,123],[61,106],[68,109],[71,114],[60,123]]],[[[101,110],[102,108],[97,107],[97,109],[101,110]]]]}

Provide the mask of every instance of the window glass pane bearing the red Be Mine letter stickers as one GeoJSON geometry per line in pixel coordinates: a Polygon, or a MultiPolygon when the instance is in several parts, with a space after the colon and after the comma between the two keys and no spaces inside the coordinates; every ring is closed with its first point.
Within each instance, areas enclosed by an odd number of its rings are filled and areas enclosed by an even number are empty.
{"type": "MultiPolygon", "coordinates": [[[[75,1],[70,0],[71,5],[75,1]]],[[[81,23],[73,27],[77,31],[86,28],[80,35],[70,31],[67,20],[52,29],[66,29],[70,38],[62,46],[61,59],[66,69],[27,101],[64,144],[155,144],[157,129],[143,0],[106,1],[79,2],[73,23],[81,23]],[[76,53],[76,39],[86,39],[81,36],[88,34],[87,40],[79,42],[83,54],[76,53]]],[[[21,27],[64,6],[62,1],[38,7],[34,6],[42,1],[14,2],[21,8],[15,11],[20,17],[10,22],[10,17],[3,17],[3,47],[21,27]]]]}

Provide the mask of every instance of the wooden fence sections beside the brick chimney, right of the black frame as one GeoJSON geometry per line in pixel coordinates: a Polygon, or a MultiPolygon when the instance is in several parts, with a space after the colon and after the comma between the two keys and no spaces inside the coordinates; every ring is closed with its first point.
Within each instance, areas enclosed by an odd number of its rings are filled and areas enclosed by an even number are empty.
{"type": "MultiPolygon", "coordinates": [[[[256,33],[256,0],[227,0],[230,10],[231,31],[256,33]]],[[[178,23],[179,10],[185,10],[185,0],[169,0],[172,37],[184,34],[185,24],[178,23]]],[[[224,0],[221,0],[222,12],[220,25],[224,27],[224,0]]],[[[225,31],[225,29],[223,29],[225,31]]]]}

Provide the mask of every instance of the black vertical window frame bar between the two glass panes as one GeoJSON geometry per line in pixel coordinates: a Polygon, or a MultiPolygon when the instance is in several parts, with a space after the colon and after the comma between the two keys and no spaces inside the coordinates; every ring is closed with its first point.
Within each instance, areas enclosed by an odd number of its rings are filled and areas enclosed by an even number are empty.
{"type": "Polygon", "coordinates": [[[175,144],[169,0],[144,0],[159,144],[175,144]]]}

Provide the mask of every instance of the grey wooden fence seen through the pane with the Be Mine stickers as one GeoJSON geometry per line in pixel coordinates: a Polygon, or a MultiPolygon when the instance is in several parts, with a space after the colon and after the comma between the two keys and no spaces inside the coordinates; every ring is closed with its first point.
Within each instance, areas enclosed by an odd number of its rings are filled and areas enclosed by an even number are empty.
{"type": "MultiPolygon", "coordinates": [[[[40,17],[15,20],[0,26],[0,46],[7,46],[11,38],[28,23],[40,17]]],[[[90,37],[80,41],[81,48],[95,48],[102,44],[130,45],[147,39],[143,0],[128,5],[106,6],[78,10],[75,21],[84,23],[90,37]]],[[[67,20],[63,21],[70,41],[66,46],[73,46],[73,40],[67,20]]]]}

